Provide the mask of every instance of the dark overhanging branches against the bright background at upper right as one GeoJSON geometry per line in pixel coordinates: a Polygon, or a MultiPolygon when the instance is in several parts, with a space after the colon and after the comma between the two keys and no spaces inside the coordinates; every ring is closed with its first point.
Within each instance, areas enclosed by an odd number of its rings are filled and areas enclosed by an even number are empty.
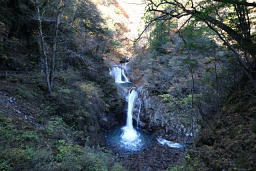
{"type": "Polygon", "coordinates": [[[193,21],[213,30],[235,55],[256,86],[256,3],[246,0],[148,0],[147,27],[158,21],[184,19],[179,32],[193,21]],[[253,27],[254,26],[254,27],[253,27]]]}

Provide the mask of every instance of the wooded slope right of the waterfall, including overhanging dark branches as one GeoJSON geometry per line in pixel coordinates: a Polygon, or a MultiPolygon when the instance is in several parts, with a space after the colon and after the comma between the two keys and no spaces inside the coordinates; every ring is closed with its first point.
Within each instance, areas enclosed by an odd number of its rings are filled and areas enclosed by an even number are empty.
{"type": "Polygon", "coordinates": [[[255,152],[241,147],[255,139],[255,7],[245,0],[147,1],[150,52],[133,67],[151,97],[166,104],[154,111],[166,130],[177,123],[194,135],[201,130],[197,147],[170,170],[255,168],[255,152]]]}

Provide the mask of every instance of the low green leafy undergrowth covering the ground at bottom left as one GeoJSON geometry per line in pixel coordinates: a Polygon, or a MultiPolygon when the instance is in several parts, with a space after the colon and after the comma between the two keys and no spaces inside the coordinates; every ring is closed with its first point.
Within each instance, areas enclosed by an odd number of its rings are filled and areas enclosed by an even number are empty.
{"type": "Polygon", "coordinates": [[[105,171],[114,165],[110,153],[75,145],[77,131],[62,118],[52,117],[41,131],[6,117],[0,111],[0,170],[89,170],[105,171]],[[56,142],[56,139],[57,142],[56,142]]]}

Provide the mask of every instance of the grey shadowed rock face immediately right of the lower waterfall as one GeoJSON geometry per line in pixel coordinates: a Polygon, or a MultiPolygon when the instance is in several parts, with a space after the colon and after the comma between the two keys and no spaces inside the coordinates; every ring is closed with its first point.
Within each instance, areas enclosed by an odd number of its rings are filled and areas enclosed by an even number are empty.
{"type": "MultiPolygon", "coordinates": [[[[181,123],[179,114],[171,113],[170,108],[161,102],[159,97],[150,96],[143,87],[140,87],[138,92],[142,101],[139,127],[168,140],[191,143],[191,128],[181,123]]],[[[139,104],[136,104],[134,119],[136,119],[138,111],[139,104]]]]}

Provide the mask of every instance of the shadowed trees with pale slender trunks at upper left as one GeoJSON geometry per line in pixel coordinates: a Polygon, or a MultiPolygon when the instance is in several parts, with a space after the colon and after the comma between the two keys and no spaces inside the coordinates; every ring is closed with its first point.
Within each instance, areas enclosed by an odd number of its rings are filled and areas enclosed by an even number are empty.
{"type": "Polygon", "coordinates": [[[95,8],[89,1],[1,1],[2,67],[31,70],[40,65],[51,92],[56,70],[88,68],[88,60],[100,60],[111,46],[110,32],[95,8]]]}

